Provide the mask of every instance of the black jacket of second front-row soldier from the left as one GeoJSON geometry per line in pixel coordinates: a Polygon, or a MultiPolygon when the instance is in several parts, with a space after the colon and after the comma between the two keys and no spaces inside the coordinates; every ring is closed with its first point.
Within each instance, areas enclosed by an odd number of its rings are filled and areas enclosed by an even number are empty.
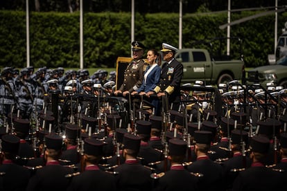
{"type": "Polygon", "coordinates": [[[69,167],[61,166],[58,161],[47,163],[46,166],[37,170],[31,177],[28,190],[67,190],[70,179],[66,178],[67,174],[73,173],[69,167]]]}

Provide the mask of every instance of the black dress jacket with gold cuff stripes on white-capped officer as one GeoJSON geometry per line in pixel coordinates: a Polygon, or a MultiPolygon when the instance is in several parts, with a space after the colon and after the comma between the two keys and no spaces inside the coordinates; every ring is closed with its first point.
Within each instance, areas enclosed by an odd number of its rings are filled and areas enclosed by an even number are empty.
{"type": "Polygon", "coordinates": [[[156,93],[159,91],[166,91],[168,93],[168,102],[180,102],[180,82],[182,81],[183,65],[177,60],[168,64],[164,63],[162,66],[161,79],[157,87],[155,87],[156,93]]]}

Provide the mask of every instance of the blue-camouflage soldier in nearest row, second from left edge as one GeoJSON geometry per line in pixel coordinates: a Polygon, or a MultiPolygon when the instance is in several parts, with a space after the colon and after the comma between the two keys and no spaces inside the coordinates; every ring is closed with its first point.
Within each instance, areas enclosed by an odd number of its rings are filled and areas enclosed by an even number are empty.
{"type": "Polygon", "coordinates": [[[17,80],[16,97],[18,98],[18,107],[23,118],[30,118],[33,111],[33,100],[35,92],[27,68],[21,70],[21,76],[17,80]]]}

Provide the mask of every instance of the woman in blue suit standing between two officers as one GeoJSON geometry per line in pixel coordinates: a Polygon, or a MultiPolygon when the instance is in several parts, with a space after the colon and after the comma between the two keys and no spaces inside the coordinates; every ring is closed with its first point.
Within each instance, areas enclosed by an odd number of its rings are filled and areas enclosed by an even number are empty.
{"type": "MultiPolygon", "coordinates": [[[[155,49],[151,49],[147,53],[147,61],[148,68],[144,73],[143,83],[141,87],[137,89],[137,91],[132,92],[132,95],[139,93],[139,95],[146,95],[149,91],[153,91],[160,80],[160,75],[162,69],[160,68],[161,57],[160,54],[155,51],[155,49]]],[[[159,115],[159,100],[148,98],[147,99],[153,106],[155,107],[155,115],[159,115]]]]}

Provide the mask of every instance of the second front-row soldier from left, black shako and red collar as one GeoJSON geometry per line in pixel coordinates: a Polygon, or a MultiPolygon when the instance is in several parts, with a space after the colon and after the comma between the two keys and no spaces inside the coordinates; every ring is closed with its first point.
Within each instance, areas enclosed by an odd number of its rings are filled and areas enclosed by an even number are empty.
{"type": "Polygon", "coordinates": [[[35,172],[26,190],[67,190],[70,180],[66,176],[73,173],[73,170],[61,166],[58,161],[62,153],[62,141],[62,137],[56,134],[45,136],[46,165],[35,172]]]}

